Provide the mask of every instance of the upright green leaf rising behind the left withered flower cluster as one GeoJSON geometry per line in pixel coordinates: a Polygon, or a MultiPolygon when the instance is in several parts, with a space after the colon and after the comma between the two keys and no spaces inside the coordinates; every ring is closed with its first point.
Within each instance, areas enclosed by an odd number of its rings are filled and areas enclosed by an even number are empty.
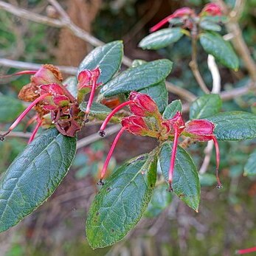
{"type": "Polygon", "coordinates": [[[83,69],[95,69],[100,67],[101,75],[99,83],[107,83],[120,69],[123,56],[122,41],[113,41],[95,48],[84,58],[78,67],[78,72],[83,69]]]}

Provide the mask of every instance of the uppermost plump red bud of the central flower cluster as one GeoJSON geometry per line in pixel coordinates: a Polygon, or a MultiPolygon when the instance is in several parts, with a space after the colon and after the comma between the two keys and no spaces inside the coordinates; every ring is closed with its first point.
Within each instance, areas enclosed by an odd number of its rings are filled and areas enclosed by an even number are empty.
{"type": "Polygon", "coordinates": [[[156,103],[147,94],[131,91],[129,100],[131,112],[139,117],[152,117],[160,115],[156,103]]]}

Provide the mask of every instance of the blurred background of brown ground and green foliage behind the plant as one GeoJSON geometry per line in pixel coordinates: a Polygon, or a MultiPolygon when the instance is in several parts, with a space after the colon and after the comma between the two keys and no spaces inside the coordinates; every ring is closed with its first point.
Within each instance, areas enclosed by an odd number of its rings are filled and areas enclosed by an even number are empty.
{"type": "MultiPolygon", "coordinates": [[[[44,0],[9,0],[13,6],[33,13],[58,18],[55,9],[44,0]]],[[[200,11],[204,0],[61,0],[72,21],[101,41],[122,39],[125,55],[131,59],[156,60],[169,58],[173,71],[168,80],[194,94],[202,95],[189,68],[190,40],[183,37],[177,44],[159,51],[137,47],[148,30],[165,16],[184,6],[200,11]]],[[[244,0],[239,19],[252,58],[256,58],[256,0],[244,0]]],[[[227,0],[232,7],[235,0],[227,0]]],[[[30,63],[53,63],[77,66],[93,47],[75,37],[69,30],[38,24],[0,9],[0,74],[17,69],[1,65],[1,60],[21,60],[30,63]]],[[[221,31],[226,34],[225,27],[221,31]]],[[[207,84],[212,83],[207,68],[207,55],[198,49],[199,69],[207,84]]],[[[239,72],[218,66],[222,90],[239,88],[249,77],[241,61],[239,72]]],[[[124,67],[122,67],[124,68],[124,67]]],[[[69,77],[69,74],[65,74],[69,77]]],[[[29,77],[0,80],[0,105],[6,98],[10,105],[0,108],[0,130],[24,108],[17,100],[18,91],[29,83],[29,77]]],[[[169,100],[178,99],[174,94],[169,100]]],[[[224,102],[223,110],[255,111],[255,93],[247,93],[224,102]]],[[[186,103],[184,101],[184,103],[186,103]]],[[[28,120],[28,119],[27,119],[28,120]]],[[[79,138],[95,134],[97,125],[86,126],[79,138]]],[[[16,131],[31,131],[26,120],[16,131]]],[[[197,256],[235,255],[236,249],[256,246],[256,177],[244,177],[243,168],[249,154],[255,150],[256,139],[245,142],[220,142],[222,190],[215,189],[215,156],[212,155],[207,173],[201,175],[201,206],[193,212],[176,197],[167,193],[167,186],[156,188],[144,218],[124,240],[114,246],[90,249],[85,238],[86,215],[97,192],[97,174],[103,166],[114,135],[81,147],[68,175],[44,205],[20,224],[0,234],[0,256],[59,256],[59,255],[120,255],[120,256],[197,256]]],[[[4,171],[27,144],[27,138],[8,137],[0,143],[0,179],[4,171]]],[[[125,134],[111,160],[111,170],[126,159],[151,151],[156,141],[125,134]]],[[[188,151],[198,166],[204,159],[205,143],[191,145],[188,151]]]]}

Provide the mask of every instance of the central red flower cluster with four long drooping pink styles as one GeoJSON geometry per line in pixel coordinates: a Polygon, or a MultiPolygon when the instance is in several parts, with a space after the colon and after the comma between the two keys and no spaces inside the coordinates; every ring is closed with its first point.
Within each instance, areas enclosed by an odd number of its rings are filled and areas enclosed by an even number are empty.
{"type": "Polygon", "coordinates": [[[103,178],[108,168],[108,162],[111,159],[111,155],[114,148],[117,145],[117,141],[124,131],[128,131],[131,134],[139,136],[151,136],[158,139],[160,142],[167,140],[173,140],[173,151],[170,157],[170,169],[168,182],[170,184],[170,190],[172,190],[173,182],[173,170],[175,168],[176,151],[179,143],[179,136],[188,136],[193,140],[206,142],[213,140],[216,151],[216,178],[217,187],[221,188],[221,181],[218,178],[218,169],[220,164],[220,152],[218,148],[218,141],[213,134],[215,126],[208,120],[192,120],[185,123],[180,111],[169,120],[165,120],[160,114],[156,103],[147,94],[142,94],[136,91],[132,91],[127,102],[120,104],[117,108],[106,117],[105,121],[100,127],[100,136],[105,135],[105,127],[121,108],[128,106],[133,115],[129,117],[123,117],[121,121],[122,129],[117,134],[114,142],[111,145],[108,156],[105,159],[103,170],[100,175],[100,181],[98,184],[104,184],[103,178]]]}

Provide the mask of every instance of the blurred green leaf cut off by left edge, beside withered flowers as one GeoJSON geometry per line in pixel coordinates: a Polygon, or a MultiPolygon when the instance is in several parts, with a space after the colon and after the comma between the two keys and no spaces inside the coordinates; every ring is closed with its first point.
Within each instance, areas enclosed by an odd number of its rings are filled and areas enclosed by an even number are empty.
{"type": "Polygon", "coordinates": [[[24,111],[21,100],[0,95],[0,122],[13,122],[24,111]]]}

